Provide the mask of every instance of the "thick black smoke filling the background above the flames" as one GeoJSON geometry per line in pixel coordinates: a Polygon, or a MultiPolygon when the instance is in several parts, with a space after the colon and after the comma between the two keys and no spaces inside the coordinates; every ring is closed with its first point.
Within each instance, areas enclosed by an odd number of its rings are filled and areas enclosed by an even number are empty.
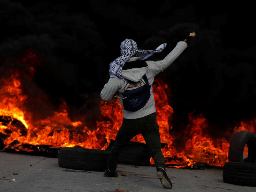
{"type": "Polygon", "coordinates": [[[171,90],[173,128],[184,128],[193,111],[219,129],[232,127],[256,114],[255,10],[223,2],[0,0],[0,76],[11,68],[29,73],[32,65],[33,80],[23,78],[27,105],[50,111],[65,99],[71,116],[96,118],[109,63],[124,39],[139,49],[167,43],[147,59],[161,60],[195,32],[158,75],[171,90]],[[26,64],[19,58],[30,51],[37,60],[26,64]]]}

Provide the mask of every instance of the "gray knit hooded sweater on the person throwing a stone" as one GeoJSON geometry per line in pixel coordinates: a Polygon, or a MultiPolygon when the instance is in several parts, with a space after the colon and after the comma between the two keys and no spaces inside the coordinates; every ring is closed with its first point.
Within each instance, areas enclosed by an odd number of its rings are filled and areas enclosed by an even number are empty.
{"type": "MultiPolygon", "coordinates": [[[[146,61],[147,67],[142,68],[132,68],[127,70],[122,70],[121,75],[133,82],[139,82],[143,75],[146,74],[148,83],[151,85],[150,89],[150,98],[147,101],[147,104],[140,110],[131,112],[123,109],[123,116],[127,119],[135,119],[147,116],[148,114],[154,113],[155,110],[155,101],[152,84],[154,78],[157,74],[165,70],[173,61],[187,48],[187,43],[184,41],[179,41],[176,47],[165,57],[165,59],[160,61],[146,61]]],[[[139,60],[140,57],[131,57],[127,62],[139,60]]],[[[128,64],[128,63],[126,63],[128,64]]],[[[117,92],[120,97],[123,97],[124,93],[124,80],[121,78],[110,78],[108,83],[106,83],[101,90],[101,98],[103,101],[110,101],[113,95],[117,92]]],[[[116,99],[116,98],[115,98],[116,99]]],[[[119,103],[123,106],[123,99],[119,99],[119,103]]]]}

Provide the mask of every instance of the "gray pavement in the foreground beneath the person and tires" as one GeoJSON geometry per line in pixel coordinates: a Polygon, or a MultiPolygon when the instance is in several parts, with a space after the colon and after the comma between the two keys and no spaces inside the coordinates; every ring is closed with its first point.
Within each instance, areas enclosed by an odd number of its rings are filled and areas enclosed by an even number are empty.
{"type": "Polygon", "coordinates": [[[117,178],[106,178],[103,177],[103,172],[59,167],[57,158],[0,152],[0,192],[256,191],[256,187],[223,182],[223,170],[216,168],[191,170],[167,167],[166,173],[173,183],[172,189],[162,187],[154,166],[118,164],[117,173],[117,178]],[[121,176],[121,173],[126,176],[121,176]],[[14,178],[16,181],[12,181],[14,178]]]}

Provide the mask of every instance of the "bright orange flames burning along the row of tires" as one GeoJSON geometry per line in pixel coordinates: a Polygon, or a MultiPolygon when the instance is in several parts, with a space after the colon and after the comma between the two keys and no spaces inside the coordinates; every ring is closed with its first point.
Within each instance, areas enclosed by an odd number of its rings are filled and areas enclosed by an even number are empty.
{"type": "MultiPolygon", "coordinates": [[[[35,54],[29,52],[27,58],[23,58],[24,64],[37,62],[35,54]]],[[[33,75],[35,68],[30,66],[33,75]]],[[[189,114],[189,125],[184,130],[184,148],[176,146],[176,138],[172,135],[173,109],[168,105],[167,94],[170,90],[168,85],[160,79],[158,88],[154,91],[154,99],[157,113],[157,122],[161,135],[161,142],[167,146],[162,148],[166,158],[166,164],[174,167],[193,166],[196,162],[204,162],[209,165],[223,166],[228,161],[229,143],[225,138],[213,139],[207,132],[209,125],[203,115],[195,116],[189,114]]],[[[19,144],[12,146],[15,150],[33,151],[25,148],[22,144],[50,145],[52,147],[75,147],[94,148],[105,150],[111,139],[115,139],[118,129],[123,120],[122,106],[118,99],[113,98],[109,102],[100,102],[101,117],[96,122],[94,129],[89,129],[86,122],[72,121],[68,116],[68,106],[65,101],[54,112],[41,120],[35,121],[32,112],[25,108],[29,96],[23,94],[22,84],[18,72],[12,71],[8,79],[0,79],[0,116],[8,117],[9,123],[0,123],[0,132],[9,135],[3,139],[5,146],[14,140],[19,144]],[[104,118],[102,118],[104,117],[104,118]],[[12,123],[16,119],[25,127],[12,123]]],[[[249,123],[241,122],[241,125],[234,128],[234,132],[241,130],[256,133],[256,120],[249,123]]],[[[132,141],[145,143],[141,134],[132,141]]],[[[38,147],[39,150],[39,147],[38,147]]],[[[244,152],[246,155],[246,149],[244,152]]],[[[151,164],[154,160],[150,159],[151,164]]]]}

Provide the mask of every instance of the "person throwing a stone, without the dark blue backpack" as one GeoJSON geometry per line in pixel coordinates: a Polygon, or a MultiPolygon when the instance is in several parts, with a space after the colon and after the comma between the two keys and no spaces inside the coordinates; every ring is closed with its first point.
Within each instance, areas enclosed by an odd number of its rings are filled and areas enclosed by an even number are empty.
{"type": "Polygon", "coordinates": [[[110,101],[118,90],[119,103],[123,106],[124,88],[128,81],[139,82],[146,75],[150,87],[150,97],[146,105],[137,111],[123,109],[123,123],[116,135],[109,158],[108,167],[104,177],[118,177],[115,172],[117,159],[121,148],[127,144],[134,136],[142,134],[150,153],[154,159],[157,169],[157,176],[163,187],[172,188],[172,182],[165,172],[165,157],[161,151],[161,140],[159,126],[156,119],[156,109],[153,94],[153,82],[156,75],[165,70],[173,61],[187,48],[185,41],[177,43],[176,47],[163,60],[144,61],[147,57],[165,48],[166,44],[160,45],[155,50],[138,50],[136,42],[132,39],[125,39],[121,43],[121,54],[110,63],[110,79],[101,91],[103,101],[110,101]],[[132,57],[133,56],[133,57],[132,57]]]}

